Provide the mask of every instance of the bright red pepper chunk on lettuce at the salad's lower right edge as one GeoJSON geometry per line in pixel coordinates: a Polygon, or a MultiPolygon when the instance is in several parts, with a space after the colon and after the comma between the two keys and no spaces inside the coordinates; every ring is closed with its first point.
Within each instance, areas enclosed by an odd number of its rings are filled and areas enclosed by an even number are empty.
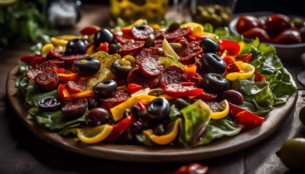
{"type": "Polygon", "coordinates": [[[236,116],[236,124],[241,124],[244,126],[242,131],[248,131],[262,124],[265,120],[264,117],[259,117],[255,113],[251,113],[247,110],[242,111],[236,116]]]}

